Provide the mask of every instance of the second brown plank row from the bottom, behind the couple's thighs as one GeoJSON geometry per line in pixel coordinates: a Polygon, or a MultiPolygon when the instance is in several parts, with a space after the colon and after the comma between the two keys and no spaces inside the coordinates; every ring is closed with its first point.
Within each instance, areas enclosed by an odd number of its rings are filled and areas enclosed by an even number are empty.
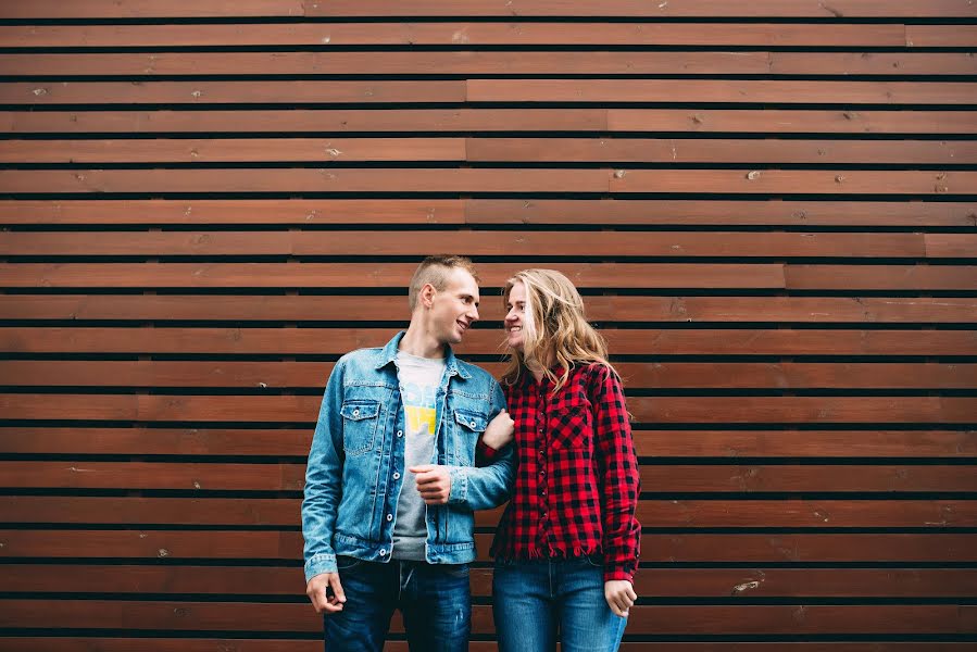
{"type": "MultiPolygon", "coordinates": [[[[2,600],[0,626],[45,628],[237,630],[318,632],[322,616],[309,604],[112,600],[2,600]]],[[[629,634],[970,634],[977,614],[954,604],[898,605],[638,605],[629,634]]],[[[492,629],[491,607],[474,605],[473,634],[492,629]]],[[[394,617],[391,631],[402,631],[394,617]]]]}

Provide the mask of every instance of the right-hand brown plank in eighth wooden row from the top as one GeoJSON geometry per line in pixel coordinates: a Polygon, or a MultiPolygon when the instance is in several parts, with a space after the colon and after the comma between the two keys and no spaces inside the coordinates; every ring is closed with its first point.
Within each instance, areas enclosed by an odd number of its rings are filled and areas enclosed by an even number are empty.
{"type": "MultiPolygon", "coordinates": [[[[176,202],[174,202],[176,203],[176,202]]],[[[28,204],[29,205],[29,204],[28,204]]],[[[71,204],[64,205],[67,212],[71,204]]],[[[84,205],[84,204],[83,204],[84,205]]],[[[179,204],[177,204],[179,205],[179,204]]],[[[38,211],[48,211],[46,205],[38,211]]],[[[0,203],[0,216],[12,211],[0,203]]],[[[472,224],[684,224],[790,226],[962,226],[977,224],[973,202],[924,201],[736,201],[644,199],[469,199],[472,224]]]]}

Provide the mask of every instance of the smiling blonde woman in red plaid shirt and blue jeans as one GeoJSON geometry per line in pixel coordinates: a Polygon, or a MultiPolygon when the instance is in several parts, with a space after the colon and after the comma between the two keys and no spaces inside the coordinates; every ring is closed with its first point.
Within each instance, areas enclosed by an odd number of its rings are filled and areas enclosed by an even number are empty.
{"type": "MultiPolygon", "coordinates": [[[[515,488],[492,554],[501,652],[617,650],[638,565],[638,462],[603,338],[563,274],[525,269],[503,293],[515,488]]],[[[490,427],[485,443],[508,443],[490,427]]]]}

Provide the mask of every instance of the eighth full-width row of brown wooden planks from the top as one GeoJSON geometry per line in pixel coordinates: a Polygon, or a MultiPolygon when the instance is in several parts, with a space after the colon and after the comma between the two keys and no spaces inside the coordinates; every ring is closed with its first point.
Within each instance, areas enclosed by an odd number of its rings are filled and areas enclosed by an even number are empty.
{"type": "Polygon", "coordinates": [[[2,224],[511,224],[973,227],[977,204],[641,199],[0,200],[2,224]]]}

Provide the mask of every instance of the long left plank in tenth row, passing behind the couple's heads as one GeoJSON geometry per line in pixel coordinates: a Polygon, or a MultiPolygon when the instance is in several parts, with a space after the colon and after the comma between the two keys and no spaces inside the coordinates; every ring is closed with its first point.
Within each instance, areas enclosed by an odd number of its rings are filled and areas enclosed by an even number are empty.
{"type": "MultiPolygon", "coordinates": [[[[402,290],[416,263],[0,263],[0,287],[329,288],[402,290]]],[[[511,263],[483,263],[483,287],[502,287],[511,263]]],[[[560,266],[577,287],[782,288],[779,264],[568,263],[560,266]]],[[[824,275],[830,275],[825,269],[824,275]]],[[[937,278],[936,280],[940,280],[937,278]]],[[[846,289],[862,287],[844,278],[846,289]]],[[[922,280],[920,280],[922,283],[922,280]]],[[[824,284],[830,286],[830,279],[824,284]]],[[[954,280],[954,287],[959,281],[954,280]]],[[[398,315],[400,316],[400,315],[398,315]]]]}

